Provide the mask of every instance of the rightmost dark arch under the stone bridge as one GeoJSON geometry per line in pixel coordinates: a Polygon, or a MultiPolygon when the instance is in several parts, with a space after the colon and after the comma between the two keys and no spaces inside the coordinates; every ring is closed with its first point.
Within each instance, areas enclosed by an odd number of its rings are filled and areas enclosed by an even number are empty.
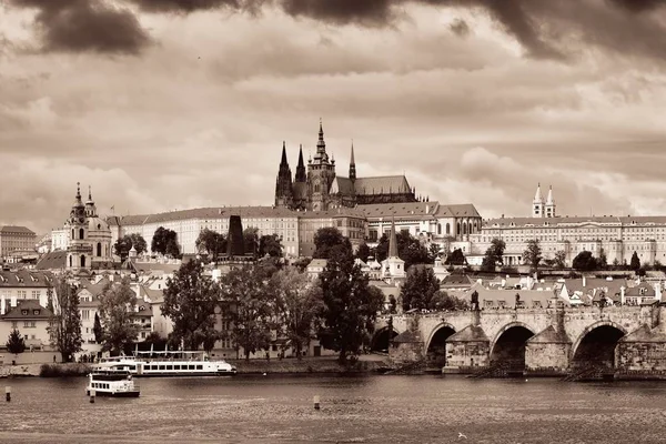
{"type": "Polygon", "coordinates": [[[615,347],[627,331],[624,326],[603,320],[588,325],[572,347],[572,367],[602,365],[615,367],[615,347]]]}

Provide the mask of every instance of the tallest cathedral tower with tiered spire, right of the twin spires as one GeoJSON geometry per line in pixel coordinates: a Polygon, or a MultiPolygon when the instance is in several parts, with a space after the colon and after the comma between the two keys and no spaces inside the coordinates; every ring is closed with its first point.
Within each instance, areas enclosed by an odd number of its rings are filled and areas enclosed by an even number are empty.
{"type": "Polygon", "coordinates": [[[335,161],[329,160],[326,143],[324,142],[324,130],[320,120],[319,140],[316,154],[307,161],[307,196],[309,206],[312,211],[325,211],[331,203],[329,191],[335,179],[335,161]]]}

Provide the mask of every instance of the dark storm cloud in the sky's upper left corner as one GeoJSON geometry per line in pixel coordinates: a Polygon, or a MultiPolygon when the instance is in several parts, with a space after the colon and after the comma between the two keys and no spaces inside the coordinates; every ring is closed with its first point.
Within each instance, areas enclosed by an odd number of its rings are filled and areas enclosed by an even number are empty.
{"type": "Polygon", "coordinates": [[[138,53],[148,33],[128,9],[101,0],[10,0],[39,10],[34,18],[44,51],[138,53]]]}

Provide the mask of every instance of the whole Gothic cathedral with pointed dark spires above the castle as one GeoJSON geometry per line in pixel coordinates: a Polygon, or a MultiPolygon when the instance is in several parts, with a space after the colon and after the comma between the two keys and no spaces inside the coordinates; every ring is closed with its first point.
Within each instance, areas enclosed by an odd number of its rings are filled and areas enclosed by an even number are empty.
{"type": "Polygon", "coordinates": [[[282,143],[282,159],[275,180],[275,206],[292,210],[326,211],[332,208],[371,203],[416,202],[415,190],[404,175],[356,178],[354,145],[351,149],[349,176],[335,172],[335,160],[326,153],[324,130],[320,122],[316,152],[303,162],[303,147],[299,151],[296,173],[286,160],[286,145],[282,143]]]}

